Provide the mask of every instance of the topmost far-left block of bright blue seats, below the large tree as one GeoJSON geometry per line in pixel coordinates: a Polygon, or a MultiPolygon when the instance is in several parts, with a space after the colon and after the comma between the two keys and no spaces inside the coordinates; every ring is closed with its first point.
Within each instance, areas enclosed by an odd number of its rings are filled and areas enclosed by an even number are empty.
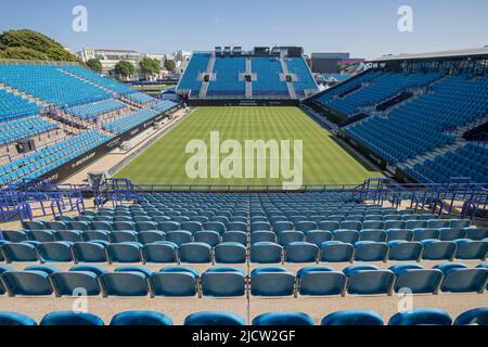
{"type": "Polygon", "coordinates": [[[0,82],[54,104],[75,106],[111,98],[55,65],[0,65],[0,82]]]}

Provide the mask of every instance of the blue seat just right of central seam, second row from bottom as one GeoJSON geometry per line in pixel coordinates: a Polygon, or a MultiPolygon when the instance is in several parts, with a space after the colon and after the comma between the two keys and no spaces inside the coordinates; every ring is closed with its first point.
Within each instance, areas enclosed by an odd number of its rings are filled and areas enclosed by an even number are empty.
{"type": "Polygon", "coordinates": [[[251,272],[253,296],[292,296],[295,275],[284,268],[258,268],[251,272]]]}

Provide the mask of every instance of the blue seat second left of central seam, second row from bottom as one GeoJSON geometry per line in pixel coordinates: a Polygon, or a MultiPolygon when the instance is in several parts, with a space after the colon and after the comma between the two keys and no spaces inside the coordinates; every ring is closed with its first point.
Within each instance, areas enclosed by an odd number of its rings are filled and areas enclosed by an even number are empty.
{"type": "Polygon", "coordinates": [[[171,267],[151,275],[154,296],[193,297],[197,294],[198,272],[190,268],[171,267]]]}

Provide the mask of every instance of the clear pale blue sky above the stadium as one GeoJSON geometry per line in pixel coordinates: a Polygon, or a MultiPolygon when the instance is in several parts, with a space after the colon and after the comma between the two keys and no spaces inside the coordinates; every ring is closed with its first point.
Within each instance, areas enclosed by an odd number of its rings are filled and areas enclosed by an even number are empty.
{"type": "Polygon", "coordinates": [[[82,47],[170,53],[215,46],[303,46],[311,52],[425,52],[488,44],[487,0],[1,0],[0,30],[29,28],[82,47]],[[88,9],[88,33],[72,9],[88,9]],[[414,31],[397,29],[400,5],[414,31]]]}

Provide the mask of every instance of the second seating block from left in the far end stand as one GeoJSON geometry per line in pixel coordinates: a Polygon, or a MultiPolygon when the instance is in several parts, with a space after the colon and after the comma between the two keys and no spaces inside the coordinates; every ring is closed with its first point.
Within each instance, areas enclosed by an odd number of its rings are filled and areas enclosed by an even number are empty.
{"type": "Polygon", "coordinates": [[[219,57],[214,65],[215,80],[208,85],[208,97],[244,97],[245,82],[239,75],[246,70],[244,56],[219,57]]]}

